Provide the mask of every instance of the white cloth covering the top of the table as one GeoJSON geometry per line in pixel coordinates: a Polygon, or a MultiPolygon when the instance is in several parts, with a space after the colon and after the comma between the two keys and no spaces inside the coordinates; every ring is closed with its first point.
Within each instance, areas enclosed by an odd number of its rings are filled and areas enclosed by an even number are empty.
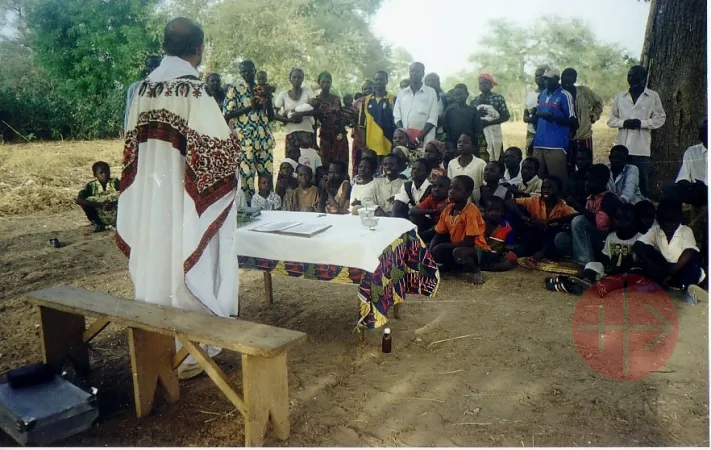
{"type": "Polygon", "coordinates": [[[239,256],[332,264],[373,272],[383,250],[414,228],[409,220],[391,217],[381,217],[376,229],[370,231],[361,225],[358,216],[262,211],[259,221],[237,229],[235,246],[239,256]],[[250,231],[266,222],[323,223],[331,228],[310,238],[250,231]]]}

